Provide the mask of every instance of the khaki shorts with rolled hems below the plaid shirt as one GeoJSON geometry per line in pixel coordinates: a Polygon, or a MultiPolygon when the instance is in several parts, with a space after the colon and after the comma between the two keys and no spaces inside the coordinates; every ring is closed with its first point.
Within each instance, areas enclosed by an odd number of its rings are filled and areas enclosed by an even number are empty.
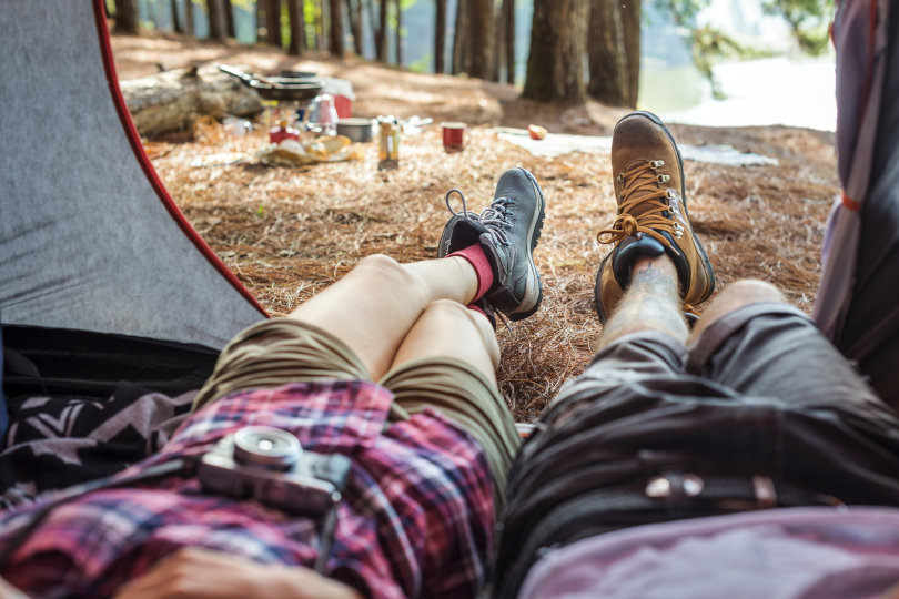
{"type": "MultiPolygon", "coordinates": [[[[371,380],[358,356],[326,331],[290,318],[265,321],[241,332],[222,351],[193,409],[243,389],[329,378],[371,380]]],[[[376,383],[394,395],[392,422],[432,407],[471,434],[491,466],[497,509],[504,504],[519,438],[492,382],[462,361],[426,358],[408,362],[376,383]]]]}

